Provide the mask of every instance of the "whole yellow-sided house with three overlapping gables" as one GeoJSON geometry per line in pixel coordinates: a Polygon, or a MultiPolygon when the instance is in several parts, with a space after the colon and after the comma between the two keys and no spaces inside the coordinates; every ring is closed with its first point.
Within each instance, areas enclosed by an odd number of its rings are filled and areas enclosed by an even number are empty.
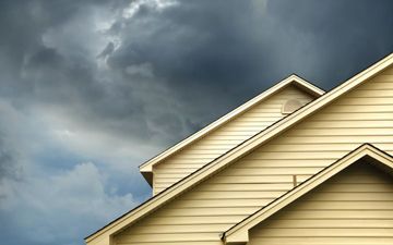
{"type": "Polygon", "coordinates": [[[85,242],[392,245],[392,154],[393,54],[329,93],[293,75],[142,164],[153,197],[85,242]]]}

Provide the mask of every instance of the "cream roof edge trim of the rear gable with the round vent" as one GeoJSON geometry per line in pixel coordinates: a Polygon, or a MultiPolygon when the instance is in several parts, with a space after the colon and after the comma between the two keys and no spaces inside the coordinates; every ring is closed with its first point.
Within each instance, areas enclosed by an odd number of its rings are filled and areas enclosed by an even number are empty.
{"type": "Polygon", "coordinates": [[[300,89],[307,91],[308,94],[310,94],[312,96],[315,96],[317,98],[325,93],[324,90],[322,90],[321,88],[311,84],[310,82],[293,74],[293,75],[288,76],[287,78],[281,81],[273,87],[269,88],[267,90],[263,91],[262,94],[258,95],[257,97],[250,99],[249,101],[241,105],[240,107],[236,108],[235,110],[230,111],[229,113],[223,115],[218,120],[206,125],[205,127],[198,131],[196,133],[190,135],[189,137],[184,138],[183,140],[179,142],[178,144],[174,145],[172,147],[170,147],[170,148],[166,149],[165,151],[163,151],[162,154],[157,155],[156,157],[144,162],[143,164],[140,166],[141,173],[146,179],[146,181],[150,184],[152,184],[153,166],[162,162],[163,160],[172,156],[175,152],[179,151],[183,147],[192,144],[193,142],[198,140],[199,138],[203,137],[204,135],[209,134],[210,132],[218,128],[221,125],[233,120],[234,118],[238,117],[239,114],[246,112],[247,110],[251,109],[253,106],[260,103],[264,99],[276,94],[278,90],[283,89],[284,87],[286,87],[288,85],[296,85],[300,89]]]}

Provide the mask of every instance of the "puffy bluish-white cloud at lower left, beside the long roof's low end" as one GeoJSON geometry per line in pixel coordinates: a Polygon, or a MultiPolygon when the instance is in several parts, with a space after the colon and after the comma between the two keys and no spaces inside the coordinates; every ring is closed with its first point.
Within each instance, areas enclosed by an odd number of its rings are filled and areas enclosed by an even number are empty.
{"type": "Polygon", "coordinates": [[[106,185],[105,174],[92,162],[47,177],[3,181],[0,189],[8,195],[0,203],[0,211],[17,212],[12,222],[31,241],[55,243],[63,238],[76,244],[87,235],[92,221],[104,224],[136,205],[131,194],[117,195],[106,185]]]}

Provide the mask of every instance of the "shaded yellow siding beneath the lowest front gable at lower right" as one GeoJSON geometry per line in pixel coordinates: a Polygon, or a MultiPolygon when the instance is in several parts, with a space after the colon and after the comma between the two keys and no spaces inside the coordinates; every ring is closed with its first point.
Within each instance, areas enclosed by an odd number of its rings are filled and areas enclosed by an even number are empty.
{"type": "Polygon", "coordinates": [[[393,179],[357,163],[251,229],[249,245],[391,245],[393,179]]]}

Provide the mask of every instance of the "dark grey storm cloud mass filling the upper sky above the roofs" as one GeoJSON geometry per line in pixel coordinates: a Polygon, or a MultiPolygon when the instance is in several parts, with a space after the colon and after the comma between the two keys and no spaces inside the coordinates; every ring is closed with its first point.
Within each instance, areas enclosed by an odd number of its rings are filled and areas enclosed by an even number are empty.
{"type": "Polygon", "coordinates": [[[66,105],[97,130],[168,143],[293,72],[332,87],[392,49],[388,1],[158,2],[134,1],[130,16],[131,1],[2,8],[16,102],[66,105]],[[88,29],[99,14],[108,27],[88,29]]]}

